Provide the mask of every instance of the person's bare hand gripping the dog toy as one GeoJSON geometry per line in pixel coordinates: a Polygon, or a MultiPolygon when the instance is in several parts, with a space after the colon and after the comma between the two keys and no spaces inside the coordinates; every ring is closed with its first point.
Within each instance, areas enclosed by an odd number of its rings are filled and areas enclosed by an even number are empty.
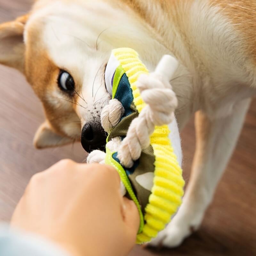
{"type": "Polygon", "coordinates": [[[116,170],[61,160],[30,180],[11,226],[37,233],[74,256],[126,255],[139,213],[121,196],[116,170]]]}

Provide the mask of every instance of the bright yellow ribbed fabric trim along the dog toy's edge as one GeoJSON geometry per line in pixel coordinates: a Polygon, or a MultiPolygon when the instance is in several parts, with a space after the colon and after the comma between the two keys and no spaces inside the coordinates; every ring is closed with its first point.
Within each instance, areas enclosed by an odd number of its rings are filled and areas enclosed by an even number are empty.
{"type": "MultiPolygon", "coordinates": [[[[118,48],[113,54],[121,64],[129,79],[133,102],[140,111],[146,106],[136,86],[138,77],[148,70],[140,61],[138,53],[130,48],[118,48]]],[[[165,225],[170,222],[172,215],[178,210],[184,194],[185,184],[182,170],[173,152],[172,144],[168,138],[170,131],[167,125],[155,127],[150,136],[150,144],[154,149],[155,172],[154,186],[149,196],[149,203],[145,208],[144,227],[137,235],[137,243],[149,242],[165,225]]]]}

